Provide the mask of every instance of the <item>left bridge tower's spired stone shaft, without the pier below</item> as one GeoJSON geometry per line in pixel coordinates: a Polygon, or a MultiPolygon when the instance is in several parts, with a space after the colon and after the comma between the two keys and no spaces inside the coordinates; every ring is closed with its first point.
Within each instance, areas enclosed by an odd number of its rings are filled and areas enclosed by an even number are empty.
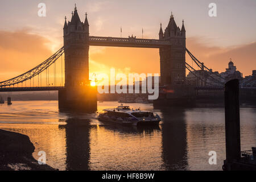
{"type": "Polygon", "coordinates": [[[89,84],[89,23],[87,14],[81,22],[77,9],[64,28],[65,86],[89,84]]]}

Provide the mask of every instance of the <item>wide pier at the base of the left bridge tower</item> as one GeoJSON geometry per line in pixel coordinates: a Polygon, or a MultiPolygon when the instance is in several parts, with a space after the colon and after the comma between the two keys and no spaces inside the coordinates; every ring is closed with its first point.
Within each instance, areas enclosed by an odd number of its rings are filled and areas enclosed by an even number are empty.
{"type": "Polygon", "coordinates": [[[83,112],[97,110],[97,87],[76,86],[59,90],[59,109],[83,112]]]}

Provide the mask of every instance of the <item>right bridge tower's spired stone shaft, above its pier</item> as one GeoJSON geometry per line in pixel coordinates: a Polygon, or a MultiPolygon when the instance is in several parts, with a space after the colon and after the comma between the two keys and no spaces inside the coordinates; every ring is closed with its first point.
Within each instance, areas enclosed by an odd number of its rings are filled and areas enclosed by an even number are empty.
{"type": "Polygon", "coordinates": [[[159,49],[161,85],[177,87],[185,84],[185,32],[184,21],[180,29],[172,14],[164,32],[160,25],[159,39],[171,42],[171,46],[159,49]]]}

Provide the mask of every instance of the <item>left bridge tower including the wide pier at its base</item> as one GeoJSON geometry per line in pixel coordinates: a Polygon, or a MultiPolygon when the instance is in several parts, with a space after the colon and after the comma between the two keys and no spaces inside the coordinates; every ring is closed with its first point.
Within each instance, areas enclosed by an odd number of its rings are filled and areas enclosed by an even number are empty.
{"type": "Polygon", "coordinates": [[[59,91],[59,109],[97,110],[97,88],[89,80],[89,23],[81,22],[77,8],[71,22],[65,18],[65,89],[59,91]]]}

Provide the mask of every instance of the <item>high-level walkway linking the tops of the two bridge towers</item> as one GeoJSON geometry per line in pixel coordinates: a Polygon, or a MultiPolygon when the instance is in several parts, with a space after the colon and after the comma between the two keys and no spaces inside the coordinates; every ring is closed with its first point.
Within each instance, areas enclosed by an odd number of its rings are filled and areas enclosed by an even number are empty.
{"type": "Polygon", "coordinates": [[[90,46],[110,46],[110,47],[142,47],[142,48],[160,48],[171,46],[167,40],[158,39],[137,39],[129,38],[112,38],[102,36],[89,36],[90,46]]]}

